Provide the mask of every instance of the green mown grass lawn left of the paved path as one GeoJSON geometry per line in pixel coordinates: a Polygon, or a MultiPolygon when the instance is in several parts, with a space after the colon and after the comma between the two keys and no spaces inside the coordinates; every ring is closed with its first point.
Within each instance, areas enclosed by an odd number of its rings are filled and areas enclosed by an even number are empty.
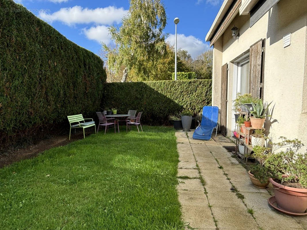
{"type": "Polygon", "coordinates": [[[1,229],[181,229],[174,131],[143,130],[101,131],[0,169],[1,229]]]}

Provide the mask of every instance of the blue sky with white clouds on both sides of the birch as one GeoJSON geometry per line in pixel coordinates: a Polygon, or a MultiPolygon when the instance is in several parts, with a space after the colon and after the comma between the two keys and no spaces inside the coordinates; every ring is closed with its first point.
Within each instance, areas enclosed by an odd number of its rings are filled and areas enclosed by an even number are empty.
{"type": "MultiPolygon", "coordinates": [[[[129,10],[128,0],[14,0],[52,25],[76,44],[98,54],[100,41],[110,43],[107,27],[120,25],[129,10]]],[[[165,0],[167,41],[175,43],[175,17],[177,47],[188,50],[193,58],[209,49],[205,36],[214,21],[223,0],[165,0]]]]}

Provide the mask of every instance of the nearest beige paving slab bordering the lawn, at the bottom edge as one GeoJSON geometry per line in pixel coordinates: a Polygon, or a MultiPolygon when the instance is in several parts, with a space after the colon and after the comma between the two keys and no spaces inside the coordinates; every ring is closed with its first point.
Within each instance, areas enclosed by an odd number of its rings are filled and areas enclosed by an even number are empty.
{"type": "Polygon", "coordinates": [[[190,223],[189,226],[192,228],[216,230],[208,205],[207,207],[182,205],[182,217],[186,222],[190,223]]]}

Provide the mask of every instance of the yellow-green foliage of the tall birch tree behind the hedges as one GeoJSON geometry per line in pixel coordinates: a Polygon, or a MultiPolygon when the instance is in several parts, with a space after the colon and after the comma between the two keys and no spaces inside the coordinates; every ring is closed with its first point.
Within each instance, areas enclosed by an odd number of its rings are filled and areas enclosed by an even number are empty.
{"type": "Polygon", "coordinates": [[[166,49],[165,25],[166,14],[161,0],[130,0],[130,9],[122,19],[122,26],[108,28],[115,47],[102,44],[109,69],[118,74],[124,66],[125,75],[133,68],[137,74],[149,79],[148,63],[154,67],[166,49]]]}

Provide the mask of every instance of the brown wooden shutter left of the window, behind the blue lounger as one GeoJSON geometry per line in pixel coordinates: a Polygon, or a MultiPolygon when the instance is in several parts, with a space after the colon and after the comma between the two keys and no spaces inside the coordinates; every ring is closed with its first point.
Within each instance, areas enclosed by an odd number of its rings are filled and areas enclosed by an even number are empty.
{"type": "Polygon", "coordinates": [[[227,63],[222,66],[222,74],[221,74],[221,124],[220,131],[226,136],[226,118],[227,118],[227,71],[228,65],[227,63]]]}

